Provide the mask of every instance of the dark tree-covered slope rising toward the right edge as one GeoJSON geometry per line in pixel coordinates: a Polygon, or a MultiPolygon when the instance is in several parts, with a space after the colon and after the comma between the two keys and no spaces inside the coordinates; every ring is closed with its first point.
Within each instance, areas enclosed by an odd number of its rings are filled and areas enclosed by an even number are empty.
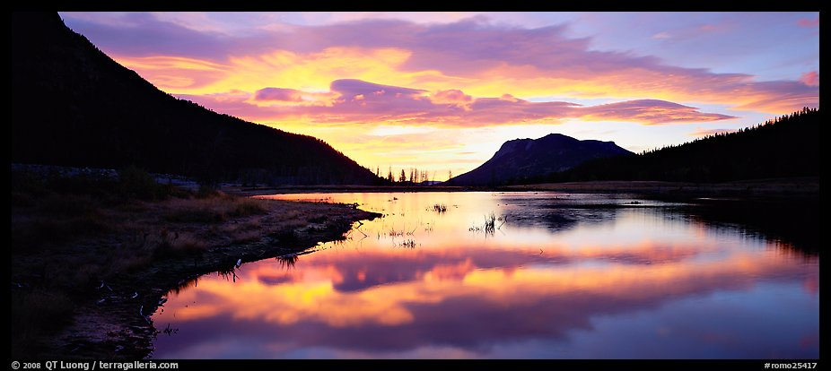
{"type": "Polygon", "coordinates": [[[715,134],[644,152],[591,160],[567,171],[522,183],[585,180],[726,182],[819,176],[819,110],[803,108],[736,133],[715,134]]]}

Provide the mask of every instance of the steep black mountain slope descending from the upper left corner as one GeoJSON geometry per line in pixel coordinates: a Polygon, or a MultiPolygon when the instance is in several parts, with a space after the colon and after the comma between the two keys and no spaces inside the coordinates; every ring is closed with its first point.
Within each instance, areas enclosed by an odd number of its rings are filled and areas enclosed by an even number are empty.
{"type": "Polygon", "coordinates": [[[12,162],[136,166],[202,181],[374,184],[311,136],[218,114],[156,89],[57,13],[12,14],[12,162]]]}

